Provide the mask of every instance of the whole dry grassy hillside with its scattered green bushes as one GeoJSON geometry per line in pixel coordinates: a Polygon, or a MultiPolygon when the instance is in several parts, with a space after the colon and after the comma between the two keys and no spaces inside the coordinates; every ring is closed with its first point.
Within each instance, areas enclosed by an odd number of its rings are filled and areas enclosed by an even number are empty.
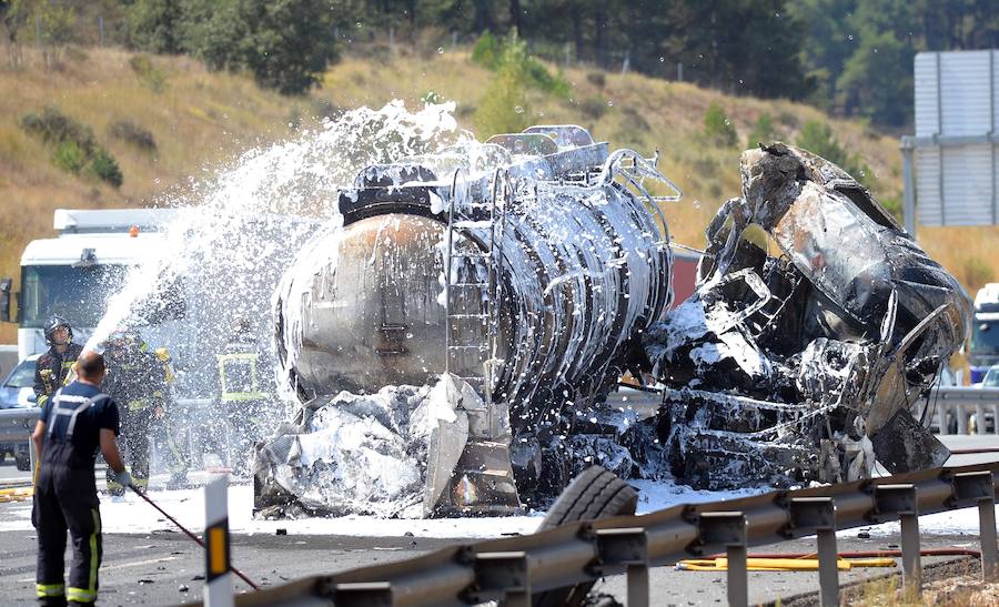
{"type": "MultiPolygon", "coordinates": [[[[480,139],[533,123],[577,123],[612,146],[652,155],[683,188],[665,209],[672,235],[699,246],[718,205],[739,193],[746,145],[801,143],[855,172],[900,213],[898,140],[864,121],[788,100],[734,97],[587,63],[539,60],[507,37],[451,44],[427,34],[342,49],[316,87],[282,95],[251,71],[212,71],[188,55],[22,45],[0,69],[0,276],[24,244],[52,234],[57,208],[154,204],[248,149],[297,136],[323,118],[402,99],[454,101],[480,139]]],[[[969,290],[999,279],[999,230],[924,229],[920,242],[969,290]]],[[[11,325],[0,342],[14,338],[11,325]]]]}

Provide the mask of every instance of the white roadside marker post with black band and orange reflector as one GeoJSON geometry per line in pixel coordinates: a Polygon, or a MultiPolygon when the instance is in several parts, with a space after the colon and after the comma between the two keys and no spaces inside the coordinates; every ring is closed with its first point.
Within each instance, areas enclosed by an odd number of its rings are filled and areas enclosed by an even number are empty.
{"type": "Polygon", "coordinates": [[[232,558],[229,538],[229,477],[218,475],[204,487],[204,604],[232,607],[232,558]]]}

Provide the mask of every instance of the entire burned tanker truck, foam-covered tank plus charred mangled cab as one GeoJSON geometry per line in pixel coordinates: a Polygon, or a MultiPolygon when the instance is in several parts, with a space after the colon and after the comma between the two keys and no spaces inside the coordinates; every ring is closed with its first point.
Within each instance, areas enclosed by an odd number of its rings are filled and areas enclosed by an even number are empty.
{"type": "Polygon", "coordinates": [[[659,205],[680,192],[655,160],[578,127],[471,158],[365,169],[285,273],[300,405],[259,445],[260,515],[508,514],[593,463],[720,488],[946,457],[914,413],[967,297],[831,163],[744,153],[743,198],[670,310],[659,205]],[[660,406],[607,405],[623,377],[660,406]]]}

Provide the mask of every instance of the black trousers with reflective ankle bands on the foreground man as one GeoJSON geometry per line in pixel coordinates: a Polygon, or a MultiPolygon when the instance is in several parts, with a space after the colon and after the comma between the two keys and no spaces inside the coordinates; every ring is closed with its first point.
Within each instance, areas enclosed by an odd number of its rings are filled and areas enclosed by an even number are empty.
{"type": "Polygon", "coordinates": [[[101,565],[101,514],[93,459],[73,453],[69,443],[46,443],[34,487],[32,523],[38,529],[36,590],[47,604],[80,604],[97,599],[101,565]],[[63,581],[65,532],[73,548],[69,587],[63,581]],[[64,598],[63,598],[64,597],[64,598]]]}

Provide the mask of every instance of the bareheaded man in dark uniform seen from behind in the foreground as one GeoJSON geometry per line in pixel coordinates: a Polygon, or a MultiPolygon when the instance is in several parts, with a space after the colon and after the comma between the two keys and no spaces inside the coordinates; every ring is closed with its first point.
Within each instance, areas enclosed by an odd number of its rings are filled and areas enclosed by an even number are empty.
{"type": "MultiPolygon", "coordinates": [[[[85,352],[78,380],[42,407],[31,435],[41,464],[31,519],[38,529],[36,595],[43,605],[93,605],[101,565],[101,514],[93,465],[98,448],[115,480],[131,484],[118,452],[118,405],[100,391],[104,361],[85,352]],[[72,540],[69,587],[63,579],[65,532],[72,540]]],[[[10,597],[8,597],[10,598],[10,597]]]]}

